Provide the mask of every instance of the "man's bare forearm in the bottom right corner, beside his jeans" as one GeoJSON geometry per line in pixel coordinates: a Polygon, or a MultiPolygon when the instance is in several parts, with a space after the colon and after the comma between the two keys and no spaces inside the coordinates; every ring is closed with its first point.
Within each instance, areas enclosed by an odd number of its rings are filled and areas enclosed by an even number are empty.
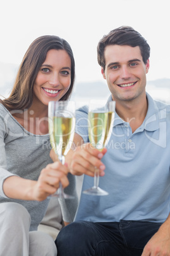
{"type": "Polygon", "coordinates": [[[141,256],[170,256],[170,213],[164,224],[148,241],[141,256]]]}

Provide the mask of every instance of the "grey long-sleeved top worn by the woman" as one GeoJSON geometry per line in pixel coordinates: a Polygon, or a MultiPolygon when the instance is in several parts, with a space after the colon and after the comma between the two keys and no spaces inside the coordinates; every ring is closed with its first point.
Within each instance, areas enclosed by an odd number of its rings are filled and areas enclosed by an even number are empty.
{"type": "MultiPolygon", "coordinates": [[[[0,203],[16,202],[25,206],[31,217],[30,231],[37,230],[49,200],[39,202],[10,199],[3,192],[3,182],[13,175],[37,180],[41,170],[52,162],[49,157],[50,150],[49,134],[37,135],[26,131],[3,104],[0,104],[0,203]]],[[[75,176],[69,173],[68,178],[70,185],[65,188],[65,192],[73,195],[75,199],[60,200],[60,204],[63,220],[72,222],[78,199],[75,176]]]]}

